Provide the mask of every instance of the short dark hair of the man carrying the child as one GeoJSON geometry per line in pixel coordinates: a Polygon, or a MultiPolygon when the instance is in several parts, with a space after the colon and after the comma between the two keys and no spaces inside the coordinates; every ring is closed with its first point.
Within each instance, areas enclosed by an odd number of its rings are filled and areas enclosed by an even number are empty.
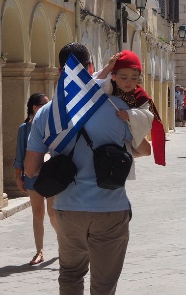
{"type": "Polygon", "coordinates": [[[64,67],[71,52],[80,61],[84,68],[87,69],[88,63],[91,61],[88,49],[83,44],[76,42],[65,45],[59,52],[59,64],[61,69],[64,67]]]}

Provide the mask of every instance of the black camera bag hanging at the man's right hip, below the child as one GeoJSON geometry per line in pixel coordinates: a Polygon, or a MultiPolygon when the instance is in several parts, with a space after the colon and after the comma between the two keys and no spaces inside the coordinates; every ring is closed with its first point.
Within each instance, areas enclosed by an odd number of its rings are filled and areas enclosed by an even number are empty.
{"type": "Polygon", "coordinates": [[[133,156],[127,151],[126,146],[106,144],[93,148],[93,142],[85,129],[81,129],[87,145],[94,153],[94,169],[97,185],[105,189],[117,189],[125,185],[131,170],[133,156]]]}

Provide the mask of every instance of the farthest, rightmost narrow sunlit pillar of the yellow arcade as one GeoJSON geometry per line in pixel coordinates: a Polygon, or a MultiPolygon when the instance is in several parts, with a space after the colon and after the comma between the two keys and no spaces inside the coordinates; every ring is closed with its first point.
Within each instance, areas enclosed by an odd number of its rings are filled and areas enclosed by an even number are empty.
{"type": "Polygon", "coordinates": [[[168,126],[168,83],[166,79],[163,79],[161,84],[161,105],[162,105],[162,123],[164,127],[165,133],[169,134],[169,126],[168,126]]]}

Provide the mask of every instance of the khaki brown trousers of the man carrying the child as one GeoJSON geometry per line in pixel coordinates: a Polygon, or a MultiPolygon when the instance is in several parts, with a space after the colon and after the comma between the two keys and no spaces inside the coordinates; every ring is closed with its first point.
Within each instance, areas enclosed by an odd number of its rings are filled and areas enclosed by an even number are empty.
{"type": "Polygon", "coordinates": [[[83,295],[90,263],[90,294],[114,295],[129,240],[129,210],[55,210],[60,295],[83,295]]]}

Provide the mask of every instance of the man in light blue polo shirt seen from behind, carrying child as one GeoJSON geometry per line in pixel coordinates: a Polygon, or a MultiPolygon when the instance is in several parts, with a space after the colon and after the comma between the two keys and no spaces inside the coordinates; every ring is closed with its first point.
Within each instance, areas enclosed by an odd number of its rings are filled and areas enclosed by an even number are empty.
{"type": "MultiPolygon", "coordinates": [[[[92,60],[87,48],[80,43],[70,43],[59,53],[60,69],[73,53],[85,69],[92,73],[92,60]]],[[[116,96],[110,96],[118,108],[129,109],[116,96]]],[[[43,143],[45,126],[52,102],[44,106],[35,116],[26,154],[26,174],[37,175],[48,147],[43,143]]],[[[106,143],[124,146],[132,135],[128,124],[115,115],[115,108],[106,100],[84,124],[84,128],[95,147],[106,143]]],[[[68,155],[77,136],[63,149],[68,155]]],[[[52,156],[57,153],[49,149],[52,156]]],[[[136,149],[150,155],[147,139],[136,149]]],[[[83,295],[83,277],[90,264],[90,294],[114,295],[120,276],[129,240],[130,203],[125,187],[116,190],[97,186],[93,164],[93,152],[82,135],[74,150],[73,162],[78,174],[76,184],[72,182],[54,199],[57,239],[59,244],[59,293],[60,295],[83,295]]]]}

